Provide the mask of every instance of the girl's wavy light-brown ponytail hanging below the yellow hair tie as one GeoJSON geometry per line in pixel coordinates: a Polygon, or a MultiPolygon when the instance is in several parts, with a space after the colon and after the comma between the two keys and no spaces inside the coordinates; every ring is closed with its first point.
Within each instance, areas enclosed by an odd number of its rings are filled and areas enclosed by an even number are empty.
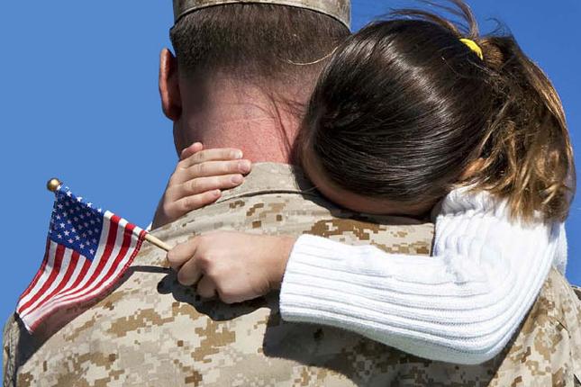
{"type": "Polygon", "coordinates": [[[508,199],[514,217],[565,220],[575,193],[575,164],[557,91],[512,36],[477,44],[496,92],[477,188],[508,199]]]}

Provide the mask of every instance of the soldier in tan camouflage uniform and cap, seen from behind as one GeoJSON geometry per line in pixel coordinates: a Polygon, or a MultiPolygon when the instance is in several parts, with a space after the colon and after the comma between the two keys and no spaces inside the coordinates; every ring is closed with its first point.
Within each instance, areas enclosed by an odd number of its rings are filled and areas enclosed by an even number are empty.
{"type": "MultiPolygon", "coordinates": [[[[179,66],[164,50],[164,111],[176,123],[178,149],[202,140],[211,148],[241,146],[253,161],[271,162],[256,165],[244,184],[156,236],[175,245],[213,229],[306,232],[390,252],[429,254],[431,224],[342,211],[314,192],[299,170],[280,164],[289,159],[319,59],[347,33],[349,4],[219,3],[232,2],[176,4],[172,38],[179,66]],[[302,51],[308,47],[302,41],[312,47],[302,51]]],[[[277,294],[234,306],[202,302],[165,267],[164,252],[144,247],[123,284],[51,336],[48,329],[30,337],[17,320],[8,321],[5,385],[579,382],[581,307],[555,270],[504,353],[484,365],[459,366],[409,356],[340,329],[285,323],[277,294]]]]}

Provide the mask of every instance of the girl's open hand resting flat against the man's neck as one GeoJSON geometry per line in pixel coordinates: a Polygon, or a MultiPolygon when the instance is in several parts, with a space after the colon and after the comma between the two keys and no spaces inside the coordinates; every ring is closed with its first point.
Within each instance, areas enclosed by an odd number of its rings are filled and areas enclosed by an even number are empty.
{"type": "Polygon", "coordinates": [[[250,160],[242,159],[242,151],[233,148],[203,150],[196,142],[182,151],[176,170],[159,202],[152,229],[217,201],[222,190],[234,188],[250,172],[250,160]]]}

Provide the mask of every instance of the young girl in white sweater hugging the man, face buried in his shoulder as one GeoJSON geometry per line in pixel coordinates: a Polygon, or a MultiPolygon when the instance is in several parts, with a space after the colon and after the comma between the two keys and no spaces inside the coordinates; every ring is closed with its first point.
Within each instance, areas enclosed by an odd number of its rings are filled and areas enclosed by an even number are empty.
{"type": "Polygon", "coordinates": [[[305,173],[331,201],[377,214],[432,210],[433,257],[214,233],[168,254],[180,283],[224,302],[280,288],[285,320],[427,358],[478,364],[505,347],[550,267],[565,271],[573,154],[548,78],[512,37],[479,36],[468,6],[455,4],[468,31],[404,11],[345,41],[297,140],[305,173]]]}

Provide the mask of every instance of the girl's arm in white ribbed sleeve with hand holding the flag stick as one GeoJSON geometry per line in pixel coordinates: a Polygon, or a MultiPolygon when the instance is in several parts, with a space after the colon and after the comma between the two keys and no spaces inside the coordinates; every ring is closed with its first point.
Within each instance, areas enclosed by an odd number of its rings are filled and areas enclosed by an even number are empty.
{"type": "MultiPolygon", "coordinates": [[[[235,172],[229,168],[237,164],[220,157],[210,162],[210,154],[198,148],[183,157],[177,168],[183,176],[173,179],[168,192],[185,192],[177,189],[187,185],[182,181],[205,179],[216,168],[235,172]]],[[[187,201],[203,197],[195,193],[187,201]]],[[[186,199],[165,202],[168,209],[180,208],[177,203],[186,199]]],[[[513,224],[486,193],[462,191],[442,204],[434,257],[386,254],[311,236],[294,242],[213,233],[176,247],[168,259],[179,282],[197,284],[202,296],[249,300],[279,287],[284,274],[285,320],[328,324],[417,356],[477,364],[503,349],[551,263],[564,271],[567,257],[562,225],[513,224]]]]}

